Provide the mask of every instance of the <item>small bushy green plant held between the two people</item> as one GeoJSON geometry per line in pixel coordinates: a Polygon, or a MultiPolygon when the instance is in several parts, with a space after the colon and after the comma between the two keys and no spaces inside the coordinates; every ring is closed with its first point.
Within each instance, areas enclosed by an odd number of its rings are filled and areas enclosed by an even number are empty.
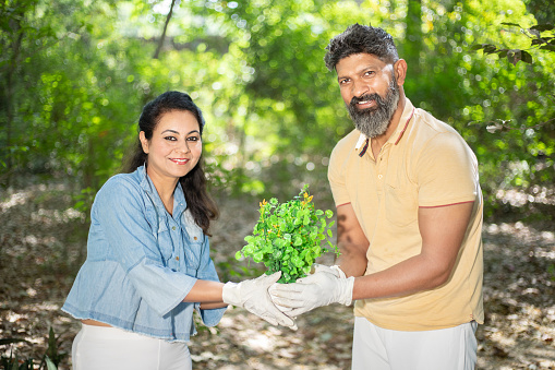
{"type": "Polygon", "coordinates": [[[305,184],[293,200],[279,203],[276,198],[260,203],[261,217],[254,226],[253,235],[244,240],[248,242],[236,253],[236,259],[251,258],[267,267],[266,274],[281,271],[278,283],[292,283],[304,277],[311,266],[324,252],[334,251],[339,254],[337,246],[326,238],[333,237],[331,226],[326,218],[334,213],[329,210],[316,210],[305,184]]]}

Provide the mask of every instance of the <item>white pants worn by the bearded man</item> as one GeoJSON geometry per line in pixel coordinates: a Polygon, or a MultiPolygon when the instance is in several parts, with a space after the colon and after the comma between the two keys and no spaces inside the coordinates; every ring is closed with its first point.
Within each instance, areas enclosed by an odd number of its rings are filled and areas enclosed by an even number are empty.
{"type": "Polygon", "coordinates": [[[354,318],[352,370],[473,370],[476,326],[401,332],[354,318]]]}

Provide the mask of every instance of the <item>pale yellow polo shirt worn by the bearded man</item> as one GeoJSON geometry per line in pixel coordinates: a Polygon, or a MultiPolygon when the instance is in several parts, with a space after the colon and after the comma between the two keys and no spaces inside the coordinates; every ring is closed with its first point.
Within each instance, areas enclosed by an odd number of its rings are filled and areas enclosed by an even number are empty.
{"type": "Polygon", "coordinates": [[[399,331],[483,323],[482,211],[478,162],[448,124],[406,99],[397,131],[374,158],[353,130],[331,153],[328,179],[337,206],[351,203],[370,241],[366,275],[420,253],[418,211],[474,202],[454,272],[444,285],[417,294],[363,299],[354,314],[399,331]],[[362,156],[361,156],[362,154],[362,156]]]}

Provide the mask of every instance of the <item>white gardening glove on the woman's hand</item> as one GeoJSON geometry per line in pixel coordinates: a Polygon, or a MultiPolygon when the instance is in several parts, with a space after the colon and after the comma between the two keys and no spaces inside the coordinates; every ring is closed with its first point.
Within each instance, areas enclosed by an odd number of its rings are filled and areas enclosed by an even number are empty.
{"type": "Polygon", "coordinates": [[[224,285],[221,298],[225,303],[242,307],[273,325],[294,329],[294,321],[276,308],[268,293],[269,286],[280,276],[281,272],[277,272],[241,283],[228,282],[224,285]]]}

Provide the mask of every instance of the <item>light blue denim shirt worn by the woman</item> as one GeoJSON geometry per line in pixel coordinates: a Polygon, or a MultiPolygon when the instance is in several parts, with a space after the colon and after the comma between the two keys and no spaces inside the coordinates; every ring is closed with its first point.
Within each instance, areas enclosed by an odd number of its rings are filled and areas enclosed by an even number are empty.
{"type": "Polygon", "coordinates": [[[183,302],[197,279],[219,279],[181,184],[171,216],[144,166],[117,175],[98,191],[91,218],[87,259],[63,311],[169,342],[196,333],[195,309],[207,326],[220,321],[225,308],[183,302]]]}

